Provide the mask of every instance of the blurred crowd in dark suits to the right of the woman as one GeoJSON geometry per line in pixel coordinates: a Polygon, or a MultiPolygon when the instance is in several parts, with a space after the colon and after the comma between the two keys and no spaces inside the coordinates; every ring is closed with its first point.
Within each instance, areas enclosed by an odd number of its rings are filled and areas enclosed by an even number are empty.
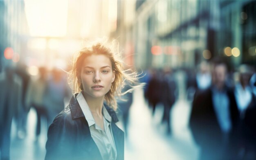
{"type": "MultiPolygon", "coordinates": [[[[202,61],[186,73],[186,99],[191,102],[189,128],[200,147],[200,160],[256,159],[256,73],[242,64],[231,68],[221,58],[202,61]]],[[[150,69],[141,79],[154,114],[164,106],[162,123],[171,134],[170,110],[177,101],[175,71],[150,69]],[[158,105],[161,104],[161,105],[158,105]]]]}

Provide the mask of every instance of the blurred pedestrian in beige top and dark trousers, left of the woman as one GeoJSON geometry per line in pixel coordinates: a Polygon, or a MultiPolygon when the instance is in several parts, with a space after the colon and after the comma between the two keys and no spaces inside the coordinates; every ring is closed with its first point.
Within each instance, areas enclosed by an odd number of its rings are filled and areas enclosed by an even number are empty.
{"type": "Polygon", "coordinates": [[[41,117],[45,117],[49,121],[47,109],[45,106],[45,89],[47,87],[47,69],[45,67],[39,68],[39,77],[31,79],[26,96],[26,105],[28,108],[34,107],[37,114],[36,123],[36,137],[40,135],[41,131],[41,117]]]}

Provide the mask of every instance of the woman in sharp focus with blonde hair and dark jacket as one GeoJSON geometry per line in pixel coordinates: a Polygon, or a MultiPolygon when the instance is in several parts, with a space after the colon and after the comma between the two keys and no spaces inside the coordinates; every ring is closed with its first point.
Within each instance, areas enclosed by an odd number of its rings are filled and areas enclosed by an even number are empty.
{"type": "Polygon", "coordinates": [[[74,61],[76,94],[48,130],[45,160],[124,160],[124,132],[118,121],[116,95],[126,74],[107,44],[96,42],[79,51],[74,61]]]}

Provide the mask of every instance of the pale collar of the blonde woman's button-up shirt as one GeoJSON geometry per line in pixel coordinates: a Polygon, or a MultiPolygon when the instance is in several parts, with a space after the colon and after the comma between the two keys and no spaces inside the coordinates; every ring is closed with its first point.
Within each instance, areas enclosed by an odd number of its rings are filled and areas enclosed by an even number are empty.
{"type": "MultiPolygon", "coordinates": [[[[78,103],[79,103],[79,105],[81,107],[81,110],[82,110],[82,112],[83,112],[83,114],[85,116],[85,119],[88,121],[89,127],[94,125],[95,121],[94,121],[94,118],[92,116],[92,112],[91,112],[90,107],[88,106],[87,102],[85,101],[82,92],[79,92],[79,94],[77,94],[76,100],[78,101],[78,103]]],[[[102,107],[102,114],[103,114],[104,118],[106,118],[106,120],[111,123],[112,118],[109,115],[109,113],[106,110],[104,105],[102,107]]]]}

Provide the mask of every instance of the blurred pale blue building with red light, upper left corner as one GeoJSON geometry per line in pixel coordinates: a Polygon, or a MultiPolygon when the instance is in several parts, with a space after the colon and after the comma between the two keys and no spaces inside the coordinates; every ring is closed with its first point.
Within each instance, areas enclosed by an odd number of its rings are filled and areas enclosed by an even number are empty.
{"type": "Polygon", "coordinates": [[[27,19],[23,0],[0,0],[0,71],[27,52],[27,19]]]}

